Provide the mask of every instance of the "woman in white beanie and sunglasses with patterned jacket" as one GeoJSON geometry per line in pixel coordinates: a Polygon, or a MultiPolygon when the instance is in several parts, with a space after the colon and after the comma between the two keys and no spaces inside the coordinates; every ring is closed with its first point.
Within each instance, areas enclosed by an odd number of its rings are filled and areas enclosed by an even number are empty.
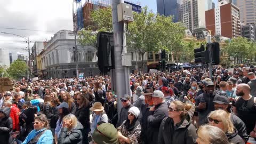
{"type": "Polygon", "coordinates": [[[140,110],[137,107],[131,107],[128,111],[128,118],[117,128],[117,137],[121,143],[140,143],[141,126],[138,121],[140,110]]]}

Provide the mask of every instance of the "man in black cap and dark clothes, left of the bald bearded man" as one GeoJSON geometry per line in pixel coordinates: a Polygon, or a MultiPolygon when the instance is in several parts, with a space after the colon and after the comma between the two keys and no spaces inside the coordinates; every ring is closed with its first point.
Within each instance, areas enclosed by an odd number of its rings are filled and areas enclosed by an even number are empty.
{"type": "Polygon", "coordinates": [[[196,108],[195,111],[198,112],[198,126],[205,124],[205,119],[207,115],[214,110],[213,98],[219,96],[219,94],[214,93],[215,85],[213,82],[205,82],[205,92],[198,95],[196,98],[196,108]]]}

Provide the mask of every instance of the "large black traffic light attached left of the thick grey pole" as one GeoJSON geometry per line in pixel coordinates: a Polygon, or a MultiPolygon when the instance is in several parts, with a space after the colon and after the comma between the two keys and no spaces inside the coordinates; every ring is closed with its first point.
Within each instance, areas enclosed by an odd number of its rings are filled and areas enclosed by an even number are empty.
{"type": "Polygon", "coordinates": [[[101,73],[106,74],[115,67],[113,33],[99,32],[97,34],[97,47],[98,67],[101,73]]]}

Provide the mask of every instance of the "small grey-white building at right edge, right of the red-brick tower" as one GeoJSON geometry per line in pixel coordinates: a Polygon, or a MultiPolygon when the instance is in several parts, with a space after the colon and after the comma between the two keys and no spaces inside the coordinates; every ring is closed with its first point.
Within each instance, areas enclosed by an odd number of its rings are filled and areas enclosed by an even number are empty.
{"type": "Polygon", "coordinates": [[[246,37],[247,39],[249,39],[250,41],[255,41],[255,25],[245,25],[242,26],[242,30],[241,30],[242,36],[246,37]]]}

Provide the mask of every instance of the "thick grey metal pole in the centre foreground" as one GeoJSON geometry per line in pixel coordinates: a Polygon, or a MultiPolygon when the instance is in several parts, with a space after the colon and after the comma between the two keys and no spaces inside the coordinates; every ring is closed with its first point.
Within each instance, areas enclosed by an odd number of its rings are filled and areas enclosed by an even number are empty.
{"type": "MultiPolygon", "coordinates": [[[[121,100],[124,94],[130,94],[129,67],[122,66],[122,53],[126,53],[126,37],[124,22],[118,22],[117,5],[124,3],[124,0],[112,0],[112,20],[114,33],[114,52],[115,52],[115,86],[117,95],[117,111],[120,114],[121,100]],[[123,38],[123,39],[122,39],[123,38]],[[123,51],[122,51],[123,50],[123,51]]],[[[118,115],[119,118],[119,115],[118,115]]]]}

